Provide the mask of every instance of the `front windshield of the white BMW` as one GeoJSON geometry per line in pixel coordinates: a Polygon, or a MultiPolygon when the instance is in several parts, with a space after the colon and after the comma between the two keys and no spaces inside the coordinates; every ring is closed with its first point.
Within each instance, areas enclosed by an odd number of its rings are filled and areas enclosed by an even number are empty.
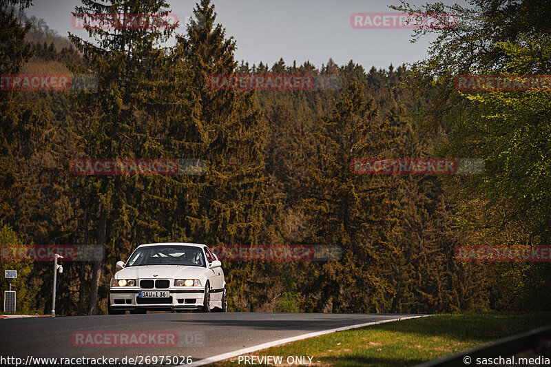
{"type": "Polygon", "coordinates": [[[141,265],[189,265],[205,267],[200,247],[148,246],[136,249],[125,267],[141,265]]]}

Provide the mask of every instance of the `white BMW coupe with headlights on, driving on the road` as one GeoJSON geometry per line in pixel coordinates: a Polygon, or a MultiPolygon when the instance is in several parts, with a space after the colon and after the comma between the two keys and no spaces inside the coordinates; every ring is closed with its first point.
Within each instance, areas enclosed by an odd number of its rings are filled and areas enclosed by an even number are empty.
{"type": "Polygon", "coordinates": [[[204,244],[142,244],[111,280],[110,315],[147,311],[227,312],[222,263],[204,244]]]}

